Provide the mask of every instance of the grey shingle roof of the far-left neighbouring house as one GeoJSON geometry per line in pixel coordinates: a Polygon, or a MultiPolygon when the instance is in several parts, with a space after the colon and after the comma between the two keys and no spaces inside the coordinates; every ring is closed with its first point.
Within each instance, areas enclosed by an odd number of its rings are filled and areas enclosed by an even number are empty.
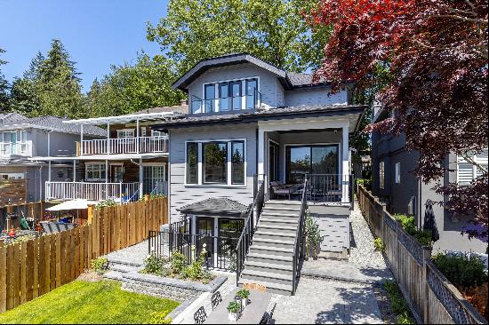
{"type": "MultiPolygon", "coordinates": [[[[10,123],[3,123],[1,126],[16,125],[20,127],[36,127],[45,128],[46,130],[54,130],[65,133],[80,133],[80,125],[78,124],[68,124],[63,123],[63,121],[68,121],[68,119],[63,119],[57,116],[38,116],[23,118],[20,120],[14,120],[10,123]]],[[[107,131],[93,125],[84,125],[84,135],[90,135],[95,137],[104,137],[107,135],[107,131]]]]}

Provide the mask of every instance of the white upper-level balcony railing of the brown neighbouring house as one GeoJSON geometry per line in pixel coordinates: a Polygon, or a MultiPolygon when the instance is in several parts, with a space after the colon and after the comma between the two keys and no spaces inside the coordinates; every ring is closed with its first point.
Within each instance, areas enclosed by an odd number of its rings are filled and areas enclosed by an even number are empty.
{"type": "Polygon", "coordinates": [[[81,155],[150,154],[168,152],[168,136],[83,140],[81,155]]]}

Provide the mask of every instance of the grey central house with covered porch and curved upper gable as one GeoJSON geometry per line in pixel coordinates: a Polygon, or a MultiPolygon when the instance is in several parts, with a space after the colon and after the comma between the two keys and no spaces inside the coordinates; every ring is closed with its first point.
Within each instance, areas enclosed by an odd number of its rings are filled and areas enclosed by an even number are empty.
{"type": "MultiPolygon", "coordinates": [[[[186,219],[192,234],[214,238],[207,247],[213,266],[226,268],[222,255],[233,254],[229,242],[243,230],[257,181],[265,184],[265,197],[274,199],[264,211],[285,211],[269,215],[275,219],[255,234],[261,237],[253,247],[263,272],[274,263],[267,254],[292,260],[297,220],[283,219],[287,211],[296,213],[305,177],[309,210],[325,239],[322,249],[349,249],[349,136],[365,110],[351,105],[349,90],[331,94],[328,83],[313,83],[310,74],[290,73],[249,54],[204,59],[173,88],[188,93],[188,115],[154,126],[170,136],[171,222],[186,219]],[[284,246],[278,253],[266,247],[274,245],[284,246]]],[[[278,282],[268,288],[290,289],[290,283],[278,282]]]]}

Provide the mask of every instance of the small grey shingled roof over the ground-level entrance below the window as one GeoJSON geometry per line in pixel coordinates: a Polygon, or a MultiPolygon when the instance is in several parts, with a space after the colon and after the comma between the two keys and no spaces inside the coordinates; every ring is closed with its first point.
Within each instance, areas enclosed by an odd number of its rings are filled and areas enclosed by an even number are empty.
{"type": "Polygon", "coordinates": [[[210,214],[233,214],[240,216],[249,209],[249,206],[228,198],[209,198],[199,202],[190,203],[179,210],[182,213],[210,213],[210,214]]]}

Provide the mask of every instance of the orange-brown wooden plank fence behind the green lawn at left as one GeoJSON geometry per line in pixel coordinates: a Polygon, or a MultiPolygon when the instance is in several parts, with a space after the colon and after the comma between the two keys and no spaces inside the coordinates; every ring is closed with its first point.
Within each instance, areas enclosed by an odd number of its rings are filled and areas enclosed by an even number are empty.
{"type": "Polygon", "coordinates": [[[93,209],[89,224],[0,247],[0,313],[74,281],[94,258],[168,223],[166,198],[93,209]]]}

